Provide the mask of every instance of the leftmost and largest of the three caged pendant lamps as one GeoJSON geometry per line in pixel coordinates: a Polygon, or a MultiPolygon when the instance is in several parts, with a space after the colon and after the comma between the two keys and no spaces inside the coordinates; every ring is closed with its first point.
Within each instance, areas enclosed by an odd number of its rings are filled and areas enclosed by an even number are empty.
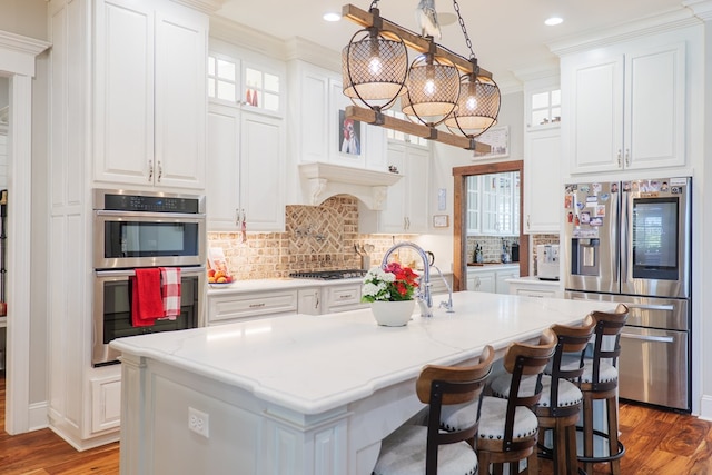
{"type": "Polygon", "coordinates": [[[397,34],[382,34],[377,3],[378,0],[373,1],[369,9],[373,26],[357,31],[342,50],[342,77],[344,95],[355,106],[379,112],[405,92],[408,50],[397,34]]]}

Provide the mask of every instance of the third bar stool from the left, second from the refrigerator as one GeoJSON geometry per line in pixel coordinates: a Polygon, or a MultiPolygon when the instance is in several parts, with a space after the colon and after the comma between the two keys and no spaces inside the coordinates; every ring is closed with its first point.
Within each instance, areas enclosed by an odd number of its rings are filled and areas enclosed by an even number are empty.
{"type": "MultiPolygon", "coordinates": [[[[583,405],[578,388],[584,372],[584,352],[595,328],[589,315],[581,326],[553,325],[556,334],[556,350],[551,366],[542,378],[544,392],[535,408],[538,418],[540,456],[551,457],[555,475],[578,472],[576,455],[576,422],[583,405]],[[571,362],[564,364],[564,362],[571,362]],[[552,447],[545,445],[546,431],[552,431],[552,447]]],[[[494,383],[493,383],[494,386],[494,383]]]]}

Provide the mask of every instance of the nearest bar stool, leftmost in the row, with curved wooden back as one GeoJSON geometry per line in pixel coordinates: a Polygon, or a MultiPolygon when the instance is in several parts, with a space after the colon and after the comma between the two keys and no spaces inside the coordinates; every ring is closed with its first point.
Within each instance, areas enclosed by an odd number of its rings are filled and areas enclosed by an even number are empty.
{"type": "Polygon", "coordinates": [[[482,393],[494,360],[486,346],[474,366],[427,365],[415,390],[427,407],[427,427],[405,424],[382,444],[374,475],[475,475],[478,473],[474,439],[479,422],[482,393]],[[461,410],[457,431],[441,431],[441,416],[451,406],[461,410]]]}

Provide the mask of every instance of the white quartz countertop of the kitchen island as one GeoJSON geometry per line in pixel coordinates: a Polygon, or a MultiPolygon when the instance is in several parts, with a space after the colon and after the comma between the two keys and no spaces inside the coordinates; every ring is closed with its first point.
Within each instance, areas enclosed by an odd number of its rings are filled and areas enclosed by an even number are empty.
{"type": "Polygon", "coordinates": [[[462,291],[454,314],[418,314],[405,327],[376,325],[370,309],[290,315],[119,338],[120,352],[166,363],[297,410],[323,413],[414,378],[423,365],[451,365],[555,323],[575,324],[610,303],[462,291]]]}

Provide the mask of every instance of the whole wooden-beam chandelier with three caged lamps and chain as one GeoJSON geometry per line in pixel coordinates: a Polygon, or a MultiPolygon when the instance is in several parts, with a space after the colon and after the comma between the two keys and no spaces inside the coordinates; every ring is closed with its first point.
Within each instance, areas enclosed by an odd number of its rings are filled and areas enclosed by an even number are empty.
{"type": "Polygon", "coordinates": [[[492,73],[477,66],[457,0],[453,0],[453,3],[472,53],[469,59],[441,47],[431,36],[417,34],[382,18],[377,2],[372,2],[369,11],[353,4],[342,8],[343,18],[363,28],[342,52],[344,95],[354,102],[354,106],[346,108],[346,117],[445,145],[488,152],[490,146],[475,141],[475,138],[496,123],[500,89],[492,73]],[[409,68],[406,47],[419,55],[409,68]],[[447,65],[447,68],[441,65],[447,65]],[[455,71],[456,85],[443,83],[451,89],[448,99],[434,99],[431,102],[417,99],[424,90],[427,95],[427,88],[433,86],[429,79],[451,80],[451,70],[455,71]],[[459,78],[457,71],[462,75],[459,78]],[[418,80],[419,86],[415,86],[418,80]],[[414,88],[413,91],[411,88],[414,88]],[[403,111],[411,120],[383,112],[398,97],[403,111]],[[442,110],[441,117],[433,117],[435,109],[442,110]],[[436,129],[443,122],[447,131],[436,129]]]}

